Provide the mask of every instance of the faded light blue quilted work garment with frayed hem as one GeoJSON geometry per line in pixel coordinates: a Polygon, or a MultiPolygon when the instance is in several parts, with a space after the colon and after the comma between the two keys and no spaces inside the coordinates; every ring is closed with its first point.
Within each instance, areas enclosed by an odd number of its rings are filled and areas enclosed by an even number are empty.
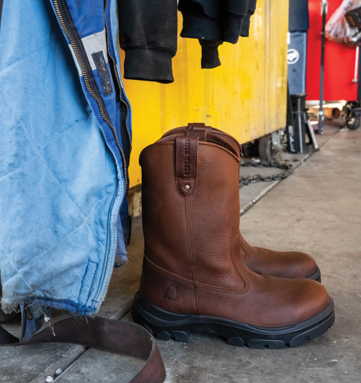
{"type": "MultiPolygon", "coordinates": [[[[91,2],[97,10],[93,24],[89,9],[68,1],[79,34],[86,36],[104,28],[103,0],[91,2]]],[[[109,1],[113,12],[115,3],[109,1]]],[[[51,1],[4,0],[0,271],[6,311],[36,300],[94,314],[116,252],[126,262],[123,236],[116,250],[118,212],[122,203],[122,214],[128,206],[121,157],[114,135],[79,80],[68,43],[51,1]]],[[[93,72],[99,83],[97,70],[93,72]]],[[[118,131],[122,127],[114,96],[104,102],[118,131]]]]}

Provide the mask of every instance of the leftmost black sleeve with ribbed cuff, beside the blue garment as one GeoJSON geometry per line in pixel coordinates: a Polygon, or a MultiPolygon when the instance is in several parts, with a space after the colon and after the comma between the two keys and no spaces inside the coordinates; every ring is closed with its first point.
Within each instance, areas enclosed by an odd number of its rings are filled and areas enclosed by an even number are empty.
{"type": "Polygon", "coordinates": [[[177,0],[118,0],[124,78],[171,83],[177,52],[177,0]]]}

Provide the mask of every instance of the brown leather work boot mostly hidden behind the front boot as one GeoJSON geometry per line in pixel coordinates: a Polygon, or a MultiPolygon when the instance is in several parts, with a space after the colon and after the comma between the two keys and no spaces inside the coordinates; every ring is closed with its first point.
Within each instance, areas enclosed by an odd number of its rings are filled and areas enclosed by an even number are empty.
{"type": "MultiPolygon", "coordinates": [[[[175,135],[187,130],[206,130],[215,137],[226,140],[233,149],[240,153],[239,142],[222,130],[205,126],[204,123],[189,123],[188,126],[175,128],[165,133],[163,137],[175,135]]],[[[282,278],[308,278],[321,282],[321,271],[313,257],[299,251],[273,251],[265,248],[250,246],[243,236],[240,237],[241,251],[245,255],[244,262],[249,269],[257,274],[280,276],[282,278]]]]}

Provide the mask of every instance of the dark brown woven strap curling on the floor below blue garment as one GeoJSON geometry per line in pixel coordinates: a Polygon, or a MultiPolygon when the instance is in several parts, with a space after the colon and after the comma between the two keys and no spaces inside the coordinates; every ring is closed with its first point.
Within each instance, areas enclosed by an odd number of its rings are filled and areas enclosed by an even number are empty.
{"type": "Polygon", "coordinates": [[[46,328],[36,333],[29,342],[20,342],[0,326],[0,346],[54,342],[81,344],[147,361],[130,383],[163,383],[165,380],[163,360],[154,337],[140,325],[99,317],[88,322],[67,318],[55,323],[53,329],[55,335],[51,328],[46,328]]]}

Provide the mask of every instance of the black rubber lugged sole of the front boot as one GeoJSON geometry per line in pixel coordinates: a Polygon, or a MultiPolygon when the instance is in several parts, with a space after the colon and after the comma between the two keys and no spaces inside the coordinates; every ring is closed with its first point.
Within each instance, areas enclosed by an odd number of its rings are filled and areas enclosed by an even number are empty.
{"type": "Polygon", "coordinates": [[[229,344],[238,347],[283,349],[301,346],[325,333],[334,324],[334,302],[330,298],[327,308],[308,321],[282,328],[264,328],[214,316],[173,314],[137,293],[132,318],[161,340],[174,338],[176,342],[188,342],[190,332],[205,332],[224,337],[229,344]]]}

